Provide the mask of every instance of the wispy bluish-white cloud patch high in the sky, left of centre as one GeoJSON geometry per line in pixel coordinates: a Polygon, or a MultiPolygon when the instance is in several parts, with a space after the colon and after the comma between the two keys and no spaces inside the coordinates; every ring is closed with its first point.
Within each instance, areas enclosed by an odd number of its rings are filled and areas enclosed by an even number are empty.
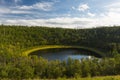
{"type": "Polygon", "coordinates": [[[38,9],[43,11],[50,11],[53,7],[53,2],[39,2],[31,6],[18,6],[19,9],[29,10],[29,9],[38,9]]]}

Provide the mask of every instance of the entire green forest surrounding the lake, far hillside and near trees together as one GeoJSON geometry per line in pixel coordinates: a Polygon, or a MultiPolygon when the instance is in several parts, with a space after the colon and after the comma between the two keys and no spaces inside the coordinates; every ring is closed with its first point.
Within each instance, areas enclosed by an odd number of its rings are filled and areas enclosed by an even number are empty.
{"type": "Polygon", "coordinates": [[[0,25],[0,78],[56,79],[120,75],[120,26],[90,29],[0,25]],[[101,51],[101,59],[48,61],[23,56],[42,45],[83,46],[101,51]]]}

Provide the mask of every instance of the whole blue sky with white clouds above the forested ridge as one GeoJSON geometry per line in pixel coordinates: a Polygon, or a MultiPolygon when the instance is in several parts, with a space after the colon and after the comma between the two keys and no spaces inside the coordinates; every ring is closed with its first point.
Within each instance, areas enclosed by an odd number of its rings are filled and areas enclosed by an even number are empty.
{"type": "Polygon", "coordinates": [[[120,0],[0,0],[0,24],[92,28],[120,25],[120,0]]]}

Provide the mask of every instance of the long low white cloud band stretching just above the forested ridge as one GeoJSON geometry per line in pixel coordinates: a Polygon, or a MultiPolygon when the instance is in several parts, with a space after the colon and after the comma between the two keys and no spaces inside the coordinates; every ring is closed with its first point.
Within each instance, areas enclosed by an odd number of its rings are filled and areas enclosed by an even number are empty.
{"type": "Polygon", "coordinates": [[[63,28],[91,28],[98,26],[119,25],[120,14],[111,12],[111,13],[107,13],[107,15],[101,14],[101,16],[97,18],[57,17],[57,18],[49,18],[49,19],[7,19],[7,20],[2,20],[1,24],[48,26],[48,27],[63,27],[63,28]]]}

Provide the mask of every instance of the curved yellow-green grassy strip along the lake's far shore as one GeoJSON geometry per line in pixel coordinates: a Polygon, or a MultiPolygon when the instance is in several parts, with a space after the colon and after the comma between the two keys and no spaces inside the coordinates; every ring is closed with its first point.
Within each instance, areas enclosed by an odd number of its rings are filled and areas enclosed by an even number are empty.
{"type": "Polygon", "coordinates": [[[29,48],[27,50],[24,50],[22,55],[27,56],[28,54],[30,54],[30,53],[32,53],[34,51],[43,50],[43,49],[51,49],[51,48],[52,49],[53,48],[76,48],[76,49],[83,49],[83,50],[88,50],[88,51],[95,52],[98,55],[101,55],[102,57],[104,57],[104,53],[102,53],[102,52],[100,52],[98,50],[92,49],[92,48],[81,47],[81,46],[64,46],[64,45],[44,45],[44,46],[32,47],[32,48],[29,48]]]}

